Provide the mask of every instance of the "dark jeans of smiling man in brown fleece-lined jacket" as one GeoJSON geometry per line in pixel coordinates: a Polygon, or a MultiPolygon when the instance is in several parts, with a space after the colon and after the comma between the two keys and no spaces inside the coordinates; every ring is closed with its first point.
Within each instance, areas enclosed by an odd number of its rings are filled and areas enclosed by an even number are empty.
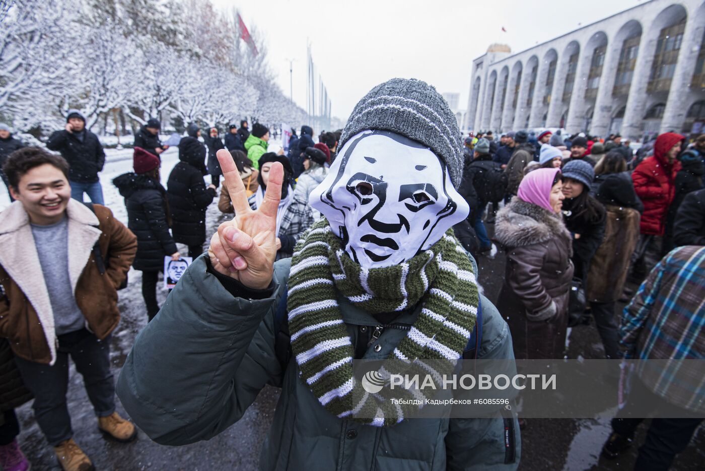
{"type": "Polygon", "coordinates": [[[115,412],[115,385],[110,371],[110,337],[100,341],[86,329],[63,334],[59,336],[54,365],[15,357],[25,386],[35,396],[32,409],[37,424],[51,446],[59,445],[73,436],[66,405],[69,355],[83,377],[95,414],[106,417],[115,412]]]}

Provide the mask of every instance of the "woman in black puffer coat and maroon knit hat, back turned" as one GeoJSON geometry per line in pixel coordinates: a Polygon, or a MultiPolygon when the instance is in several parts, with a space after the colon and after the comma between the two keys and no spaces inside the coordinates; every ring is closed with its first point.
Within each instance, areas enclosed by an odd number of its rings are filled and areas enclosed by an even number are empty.
{"type": "Polygon", "coordinates": [[[166,190],[159,183],[159,157],[135,147],[133,167],[134,173],[123,173],[113,184],[125,198],[128,228],[137,236],[133,267],[142,271],[142,298],[151,321],[159,312],[156,290],[159,271],[164,270],[164,256],[178,260],[180,255],[169,233],[171,216],[166,190]]]}

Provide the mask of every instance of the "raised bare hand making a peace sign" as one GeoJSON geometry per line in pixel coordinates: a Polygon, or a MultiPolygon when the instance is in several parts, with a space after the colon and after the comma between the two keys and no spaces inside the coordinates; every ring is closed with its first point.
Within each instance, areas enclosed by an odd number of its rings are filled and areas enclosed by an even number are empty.
{"type": "Polygon", "coordinates": [[[253,211],[230,152],[220,149],[216,157],[233,201],[235,218],[218,226],[218,232],[213,234],[208,247],[211,264],[216,271],[247,288],[264,289],[274,274],[276,211],[281,199],[283,166],[278,162],[272,164],[262,205],[253,211]]]}

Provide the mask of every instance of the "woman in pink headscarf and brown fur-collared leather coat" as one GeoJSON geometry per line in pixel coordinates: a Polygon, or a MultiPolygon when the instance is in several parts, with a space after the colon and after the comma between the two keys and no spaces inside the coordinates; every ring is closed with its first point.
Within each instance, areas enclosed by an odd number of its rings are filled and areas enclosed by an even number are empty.
{"type": "Polygon", "coordinates": [[[563,357],[573,266],[562,186],[559,169],[534,170],[496,216],[495,238],[507,255],[497,308],[517,359],[563,357]]]}

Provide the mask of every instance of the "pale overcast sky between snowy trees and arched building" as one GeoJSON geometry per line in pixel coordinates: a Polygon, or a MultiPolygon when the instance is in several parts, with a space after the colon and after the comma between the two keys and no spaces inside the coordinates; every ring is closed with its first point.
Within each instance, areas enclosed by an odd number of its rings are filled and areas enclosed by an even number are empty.
{"type": "Polygon", "coordinates": [[[460,92],[467,106],[472,60],[492,42],[522,51],[594,23],[638,0],[214,0],[240,8],[257,26],[269,66],[289,95],[306,105],[306,44],[343,121],[367,91],[392,77],[419,78],[439,92],[460,92]],[[504,27],[507,32],[502,32],[504,27]]]}

